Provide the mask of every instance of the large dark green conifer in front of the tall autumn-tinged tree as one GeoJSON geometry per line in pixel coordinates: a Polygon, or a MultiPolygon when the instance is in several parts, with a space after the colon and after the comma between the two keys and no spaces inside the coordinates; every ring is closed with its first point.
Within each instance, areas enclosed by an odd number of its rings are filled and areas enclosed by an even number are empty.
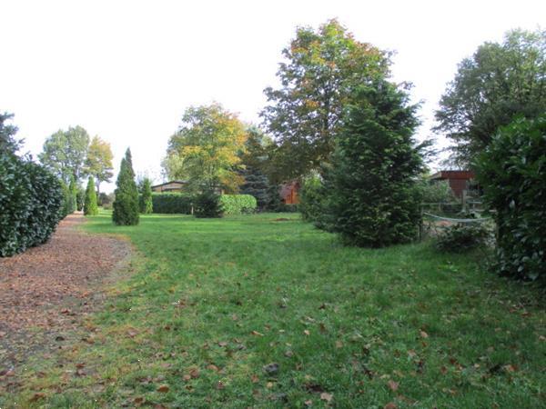
{"type": "Polygon", "coordinates": [[[422,158],[413,134],[416,105],[396,85],[359,88],[332,165],[325,172],[325,220],[347,244],[407,243],[420,224],[416,178],[422,158]]]}

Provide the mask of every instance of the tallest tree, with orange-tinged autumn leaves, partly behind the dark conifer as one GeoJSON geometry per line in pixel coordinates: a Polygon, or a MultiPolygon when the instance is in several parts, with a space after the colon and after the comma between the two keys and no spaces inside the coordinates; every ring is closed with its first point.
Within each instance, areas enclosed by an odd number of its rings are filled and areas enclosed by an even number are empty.
{"type": "Polygon", "coordinates": [[[272,176],[278,181],[307,175],[328,161],[351,90],[389,75],[389,55],[355,40],[336,20],[318,31],[298,28],[282,55],[280,87],[266,88],[269,105],[261,113],[277,142],[272,176]]]}

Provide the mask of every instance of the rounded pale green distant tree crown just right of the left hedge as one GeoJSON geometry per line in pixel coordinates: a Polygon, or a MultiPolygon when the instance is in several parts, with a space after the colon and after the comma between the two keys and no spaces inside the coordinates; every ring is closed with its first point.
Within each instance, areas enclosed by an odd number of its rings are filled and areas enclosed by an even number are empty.
{"type": "Polygon", "coordinates": [[[69,127],[49,136],[44,143],[44,152],[38,155],[40,162],[63,179],[68,185],[70,175],[76,183],[85,175],[85,163],[89,135],[81,127],[69,127]]]}

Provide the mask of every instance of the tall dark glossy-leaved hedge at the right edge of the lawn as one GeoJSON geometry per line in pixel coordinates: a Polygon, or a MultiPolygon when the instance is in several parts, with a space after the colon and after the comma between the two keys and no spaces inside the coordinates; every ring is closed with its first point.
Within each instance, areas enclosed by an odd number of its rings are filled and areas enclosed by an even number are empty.
{"type": "Polygon", "coordinates": [[[546,115],[501,128],[476,168],[497,223],[498,270],[546,278],[546,115]]]}

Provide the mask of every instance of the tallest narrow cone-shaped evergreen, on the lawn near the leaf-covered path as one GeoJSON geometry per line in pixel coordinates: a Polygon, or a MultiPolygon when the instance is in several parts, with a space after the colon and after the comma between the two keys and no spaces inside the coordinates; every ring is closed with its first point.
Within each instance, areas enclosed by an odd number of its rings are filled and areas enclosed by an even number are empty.
{"type": "Polygon", "coordinates": [[[116,199],[113,205],[112,220],[117,225],[138,224],[138,188],[132,164],[131,151],[127,148],[126,155],[121,160],[116,181],[116,199]]]}

